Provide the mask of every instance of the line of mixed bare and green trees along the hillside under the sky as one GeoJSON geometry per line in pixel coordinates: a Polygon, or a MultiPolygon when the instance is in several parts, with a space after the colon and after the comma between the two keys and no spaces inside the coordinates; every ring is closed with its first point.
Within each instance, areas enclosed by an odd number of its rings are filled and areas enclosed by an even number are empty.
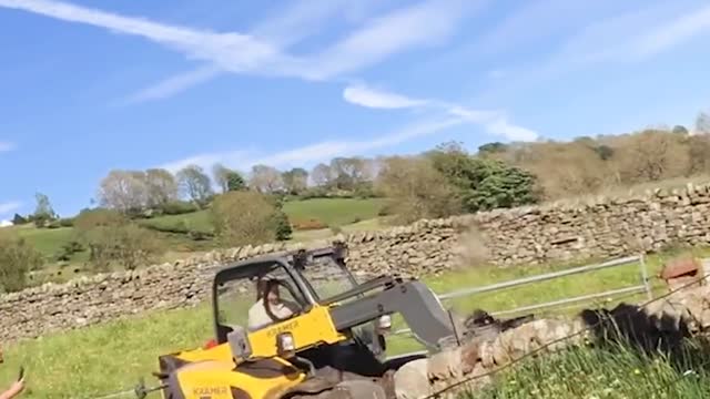
{"type": "MultiPolygon", "coordinates": [[[[255,165],[241,173],[220,164],[211,173],[196,165],[174,174],[111,171],[99,184],[98,206],[77,217],[59,218],[49,198],[38,194],[36,212],[16,218],[44,227],[74,226],[75,236],[60,260],[87,250],[98,270],[134,268],[165,250],[165,241],[139,223],[160,214],[205,209],[213,225],[210,236],[190,228],[163,233],[229,247],[288,239],[293,226],[283,203],[293,197],[385,197],[388,205],[381,216],[393,224],[537,204],[709,175],[710,117],[699,116],[693,133],[683,126],[655,126],[570,141],[493,142],[473,152],[448,142],[414,155],[336,157],[311,171],[255,165]]],[[[37,263],[27,243],[0,237],[0,268],[31,270],[37,263]],[[22,258],[26,266],[7,266],[22,258]]],[[[3,282],[22,275],[12,270],[0,270],[9,276],[3,282]]],[[[22,285],[3,284],[4,289],[22,285]]]]}

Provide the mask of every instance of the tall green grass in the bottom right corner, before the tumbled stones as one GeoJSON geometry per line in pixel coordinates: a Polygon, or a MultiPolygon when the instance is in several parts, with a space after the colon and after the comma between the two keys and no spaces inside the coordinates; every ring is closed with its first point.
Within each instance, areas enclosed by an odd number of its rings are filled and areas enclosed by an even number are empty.
{"type": "Polygon", "coordinates": [[[696,342],[688,344],[677,357],[647,356],[615,345],[526,359],[493,376],[493,383],[475,398],[708,398],[710,354],[696,342]]]}

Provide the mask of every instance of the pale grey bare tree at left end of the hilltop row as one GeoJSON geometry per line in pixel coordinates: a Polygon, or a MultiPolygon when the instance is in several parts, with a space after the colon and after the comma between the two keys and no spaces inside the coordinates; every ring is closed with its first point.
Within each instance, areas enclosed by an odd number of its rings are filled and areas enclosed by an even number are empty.
{"type": "Polygon", "coordinates": [[[99,184],[101,206],[123,214],[136,214],[149,203],[149,187],[144,172],[111,171],[99,184]]]}

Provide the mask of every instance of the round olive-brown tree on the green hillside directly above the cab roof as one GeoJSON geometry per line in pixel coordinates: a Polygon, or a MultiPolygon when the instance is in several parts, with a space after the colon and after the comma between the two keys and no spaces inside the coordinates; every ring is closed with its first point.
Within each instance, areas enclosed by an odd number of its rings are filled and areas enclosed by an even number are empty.
{"type": "Polygon", "coordinates": [[[234,247],[275,241],[277,211],[273,200],[254,191],[220,195],[210,209],[219,239],[223,245],[234,247]]]}

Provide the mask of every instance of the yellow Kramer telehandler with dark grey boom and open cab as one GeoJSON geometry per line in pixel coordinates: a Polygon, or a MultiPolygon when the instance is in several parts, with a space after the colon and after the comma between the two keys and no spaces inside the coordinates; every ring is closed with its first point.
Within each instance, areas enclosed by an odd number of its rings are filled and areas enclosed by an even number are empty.
{"type": "Polygon", "coordinates": [[[216,272],[212,345],[160,356],[162,397],[389,398],[402,365],[460,340],[463,327],[423,283],[396,276],[358,283],[346,256],[335,244],[216,272]],[[427,350],[385,357],[395,314],[427,350]]]}

